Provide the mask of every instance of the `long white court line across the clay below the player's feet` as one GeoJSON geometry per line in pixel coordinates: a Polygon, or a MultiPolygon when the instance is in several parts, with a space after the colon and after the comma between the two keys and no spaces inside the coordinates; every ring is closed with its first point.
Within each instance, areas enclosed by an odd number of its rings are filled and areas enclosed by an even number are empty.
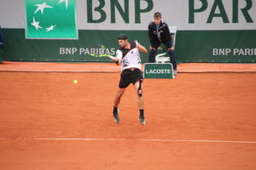
{"type": "Polygon", "coordinates": [[[35,140],[84,140],[84,141],[145,141],[145,142],[197,142],[197,143],[233,143],[256,144],[256,141],[233,140],[190,140],[190,139],[35,139],[35,140]]]}

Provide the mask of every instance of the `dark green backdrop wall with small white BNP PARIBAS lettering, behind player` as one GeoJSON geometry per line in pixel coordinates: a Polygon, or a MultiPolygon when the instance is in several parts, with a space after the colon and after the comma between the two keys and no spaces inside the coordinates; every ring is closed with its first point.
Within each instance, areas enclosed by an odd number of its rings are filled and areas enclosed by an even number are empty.
{"type": "MultiPolygon", "coordinates": [[[[79,31],[79,40],[26,39],[24,29],[3,29],[3,59],[14,61],[110,62],[96,57],[104,52],[115,54],[116,37],[125,33],[149,48],[147,31],[79,31]]],[[[177,31],[178,62],[256,61],[256,31],[177,31]]],[[[157,54],[158,62],[169,62],[165,48],[157,54]]],[[[148,62],[148,54],[142,54],[148,62]]]]}

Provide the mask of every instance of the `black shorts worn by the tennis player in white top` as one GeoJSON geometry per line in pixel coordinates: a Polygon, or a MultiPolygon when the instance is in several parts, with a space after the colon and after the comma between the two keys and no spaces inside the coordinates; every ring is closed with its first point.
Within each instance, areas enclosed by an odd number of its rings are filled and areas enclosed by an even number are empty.
{"type": "Polygon", "coordinates": [[[143,80],[143,71],[125,69],[121,73],[119,88],[127,88],[131,83],[134,85],[139,80],[143,80]]]}

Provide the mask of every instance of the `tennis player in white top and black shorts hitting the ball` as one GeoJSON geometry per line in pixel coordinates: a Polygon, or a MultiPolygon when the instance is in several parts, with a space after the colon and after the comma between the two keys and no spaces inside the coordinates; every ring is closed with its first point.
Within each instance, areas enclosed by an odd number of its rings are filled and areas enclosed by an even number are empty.
{"type": "Polygon", "coordinates": [[[136,88],[137,105],[139,108],[139,122],[146,124],[144,118],[144,99],[143,99],[143,71],[141,71],[140,51],[147,53],[147,49],[139,42],[130,42],[125,34],[118,37],[120,48],[116,52],[116,57],[110,56],[117,65],[122,65],[122,72],[119,81],[119,89],[114,97],[113,102],[113,118],[115,122],[119,122],[119,103],[127,88],[131,83],[136,88]]]}

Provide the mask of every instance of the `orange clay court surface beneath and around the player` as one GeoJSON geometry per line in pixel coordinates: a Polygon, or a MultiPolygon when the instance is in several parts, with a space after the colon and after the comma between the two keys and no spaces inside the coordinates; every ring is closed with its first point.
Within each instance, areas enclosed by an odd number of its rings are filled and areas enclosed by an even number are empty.
{"type": "Polygon", "coordinates": [[[255,169],[256,66],[179,68],[144,81],[141,126],[132,86],[113,122],[119,67],[3,63],[0,169],[255,169]]]}

